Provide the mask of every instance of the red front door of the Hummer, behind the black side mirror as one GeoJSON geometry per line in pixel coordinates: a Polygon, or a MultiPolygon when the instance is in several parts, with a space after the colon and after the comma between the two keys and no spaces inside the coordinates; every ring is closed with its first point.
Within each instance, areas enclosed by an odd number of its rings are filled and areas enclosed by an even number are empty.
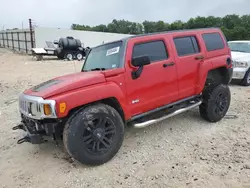
{"type": "Polygon", "coordinates": [[[174,101],[178,85],[174,56],[169,55],[170,44],[163,37],[130,39],[126,55],[127,99],[132,115],[137,115],[174,101]],[[133,57],[147,55],[150,64],[143,67],[140,77],[133,79],[133,57]]]}

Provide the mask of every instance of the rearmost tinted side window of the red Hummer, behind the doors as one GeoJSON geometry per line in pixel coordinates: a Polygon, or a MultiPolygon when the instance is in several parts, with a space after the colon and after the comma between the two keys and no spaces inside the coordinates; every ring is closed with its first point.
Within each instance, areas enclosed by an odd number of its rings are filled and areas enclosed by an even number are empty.
{"type": "Polygon", "coordinates": [[[207,51],[220,50],[225,47],[224,42],[219,33],[202,34],[207,51]]]}

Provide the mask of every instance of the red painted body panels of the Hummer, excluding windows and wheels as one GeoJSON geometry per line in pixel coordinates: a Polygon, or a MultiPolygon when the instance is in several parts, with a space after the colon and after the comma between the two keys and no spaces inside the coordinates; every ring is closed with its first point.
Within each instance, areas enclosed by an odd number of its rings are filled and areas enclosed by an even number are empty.
{"type": "Polygon", "coordinates": [[[218,29],[206,29],[131,38],[127,43],[123,68],[58,77],[56,79],[62,80],[59,84],[40,92],[29,89],[25,93],[56,100],[57,112],[59,111],[58,104],[65,102],[67,110],[63,114],[57,114],[58,117],[67,116],[69,110],[75,107],[113,97],[119,101],[125,119],[130,119],[134,115],[199,94],[209,70],[227,67],[226,60],[231,58],[231,52],[226,41],[224,41],[224,49],[207,52],[201,35],[208,32],[221,33],[218,29]],[[197,38],[200,53],[178,57],[173,38],[189,35],[197,38]],[[135,67],[130,63],[133,46],[136,43],[151,40],[163,40],[169,58],[144,66],[140,77],[133,80],[131,72],[135,70],[135,67]],[[195,57],[199,55],[205,58],[196,60],[195,57]],[[163,68],[163,64],[170,62],[174,62],[175,65],[163,68]],[[139,102],[132,104],[134,100],[139,100],[139,102]]]}

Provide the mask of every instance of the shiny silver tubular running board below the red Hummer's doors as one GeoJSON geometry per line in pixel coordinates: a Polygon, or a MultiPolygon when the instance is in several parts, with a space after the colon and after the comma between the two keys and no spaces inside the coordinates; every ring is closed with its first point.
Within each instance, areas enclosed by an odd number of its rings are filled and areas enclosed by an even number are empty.
{"type": "Polygon", "coordinates": [[[161,118],[158,118],[158,119],[151,119],[151,120],[149,120],[149,121],[145,121],[145,122],[142,122],[142,123],[135,123],[133,126],[134,126],[135,128],[144,128],[144,127],[147,127],[147,126],[149,126],[149,125],[158,123],[158,122],[163,121],[163,120],[165,120],[165,119],[168,119],[168,118],[170,118],[170,117],[176,116],[176,115],[178,115],[178,114],[180,114],[180,113],[186,112],[186,111],[188,111],[188,110],[190,110],[190,109],[192,109],[192,108],[195,108],[195,107],[199,106],[201,103],[202,103],[202,101],[199,101],[199,102],[197,102],[197,103],[195,103],[195,104],[193,104],[193,105],[190,105],[190,106],[188,106],[188,107],[186,107],[186,108],[181,108],[181,109],[179,109],[179,110],[176,110],[176,111],[174,111],[173,113],[168,114],[168,115],[166,115],[166,116],[163,116],[163,117],[161,117],[161,118]]]}

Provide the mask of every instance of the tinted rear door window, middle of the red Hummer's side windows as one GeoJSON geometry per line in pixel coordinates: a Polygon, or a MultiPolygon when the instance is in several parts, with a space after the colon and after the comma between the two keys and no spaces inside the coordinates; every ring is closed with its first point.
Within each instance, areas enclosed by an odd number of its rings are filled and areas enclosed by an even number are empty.
{"type": "Polygon", "coordinates": [[[199,53],[200,49],[195,37],[180,37],[174,39],[179,56],[199,53]]]}

